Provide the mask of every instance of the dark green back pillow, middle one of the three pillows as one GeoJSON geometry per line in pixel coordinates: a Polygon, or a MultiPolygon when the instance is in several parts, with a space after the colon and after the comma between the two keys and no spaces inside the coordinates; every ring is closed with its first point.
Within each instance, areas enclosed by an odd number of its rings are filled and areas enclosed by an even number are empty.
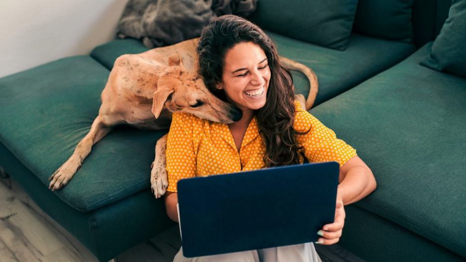
{"type": "Polygon", "coordinates": [[[414,0],[359,0],[354,32],[395,41],[412,42],[414,0]]]}

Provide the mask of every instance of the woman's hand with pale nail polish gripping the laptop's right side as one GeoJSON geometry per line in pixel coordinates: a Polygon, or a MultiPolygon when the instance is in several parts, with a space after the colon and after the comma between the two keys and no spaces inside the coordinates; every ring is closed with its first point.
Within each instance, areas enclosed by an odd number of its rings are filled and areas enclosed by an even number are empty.
{"type": "Polygon", "coordinates": [[[343,225],[345,225],[345,208],[343,207],[343,199],[337,194],[337,205],[335,208],[335,222],[326,224],[317,233],[322,236],[317,240],[317,244],[321,245],[333,245],[340,241],[342,237],[343,225]]]}

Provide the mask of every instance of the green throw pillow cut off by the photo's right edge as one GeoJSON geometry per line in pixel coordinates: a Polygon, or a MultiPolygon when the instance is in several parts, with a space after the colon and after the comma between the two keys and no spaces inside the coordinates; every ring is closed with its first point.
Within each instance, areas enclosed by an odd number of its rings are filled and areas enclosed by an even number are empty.
{"type": "Polygon", "coordinates": [[[466,77],[466,0],[453,0],[431,53],[420,64],[466,77]]]}

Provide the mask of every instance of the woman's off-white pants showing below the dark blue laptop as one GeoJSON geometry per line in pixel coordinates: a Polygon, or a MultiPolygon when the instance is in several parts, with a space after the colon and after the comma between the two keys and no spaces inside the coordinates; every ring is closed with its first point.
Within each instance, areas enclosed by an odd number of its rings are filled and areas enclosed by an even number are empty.
{"type": "Polygon", "coordinates": [[[314,243],[283,246],[277,248],[248,250],[228,254],[186,258],[183,247],[173,262],[322,262],[314,243]]]}

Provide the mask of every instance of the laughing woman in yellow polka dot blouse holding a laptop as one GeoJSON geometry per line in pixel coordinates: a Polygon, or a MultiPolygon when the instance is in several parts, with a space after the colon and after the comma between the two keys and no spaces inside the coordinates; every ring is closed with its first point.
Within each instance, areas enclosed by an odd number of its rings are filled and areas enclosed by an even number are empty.
{"type": "MultiPolygon", "coordinates": [[[[224,15],[202,32],[197,48],[199,70],[207,87],[242,111],[233,124],[219,124],[186,113],[173,114],[166,161],[168,189],[164,196],[170,219],[178,222],[178,180],[233,173],[278,165],[337,161],[340,178],[335,222],[316,232],[322,245],[339,241],[345,221],[344,205],[375,190],[376,182],[356,150],[338,139],[294,101],[293,80],[280,66],[276,47],[256,25],[224,15]]],[[[174,261],[320,261],[314,244],[185,258],[174,261]]]]}

